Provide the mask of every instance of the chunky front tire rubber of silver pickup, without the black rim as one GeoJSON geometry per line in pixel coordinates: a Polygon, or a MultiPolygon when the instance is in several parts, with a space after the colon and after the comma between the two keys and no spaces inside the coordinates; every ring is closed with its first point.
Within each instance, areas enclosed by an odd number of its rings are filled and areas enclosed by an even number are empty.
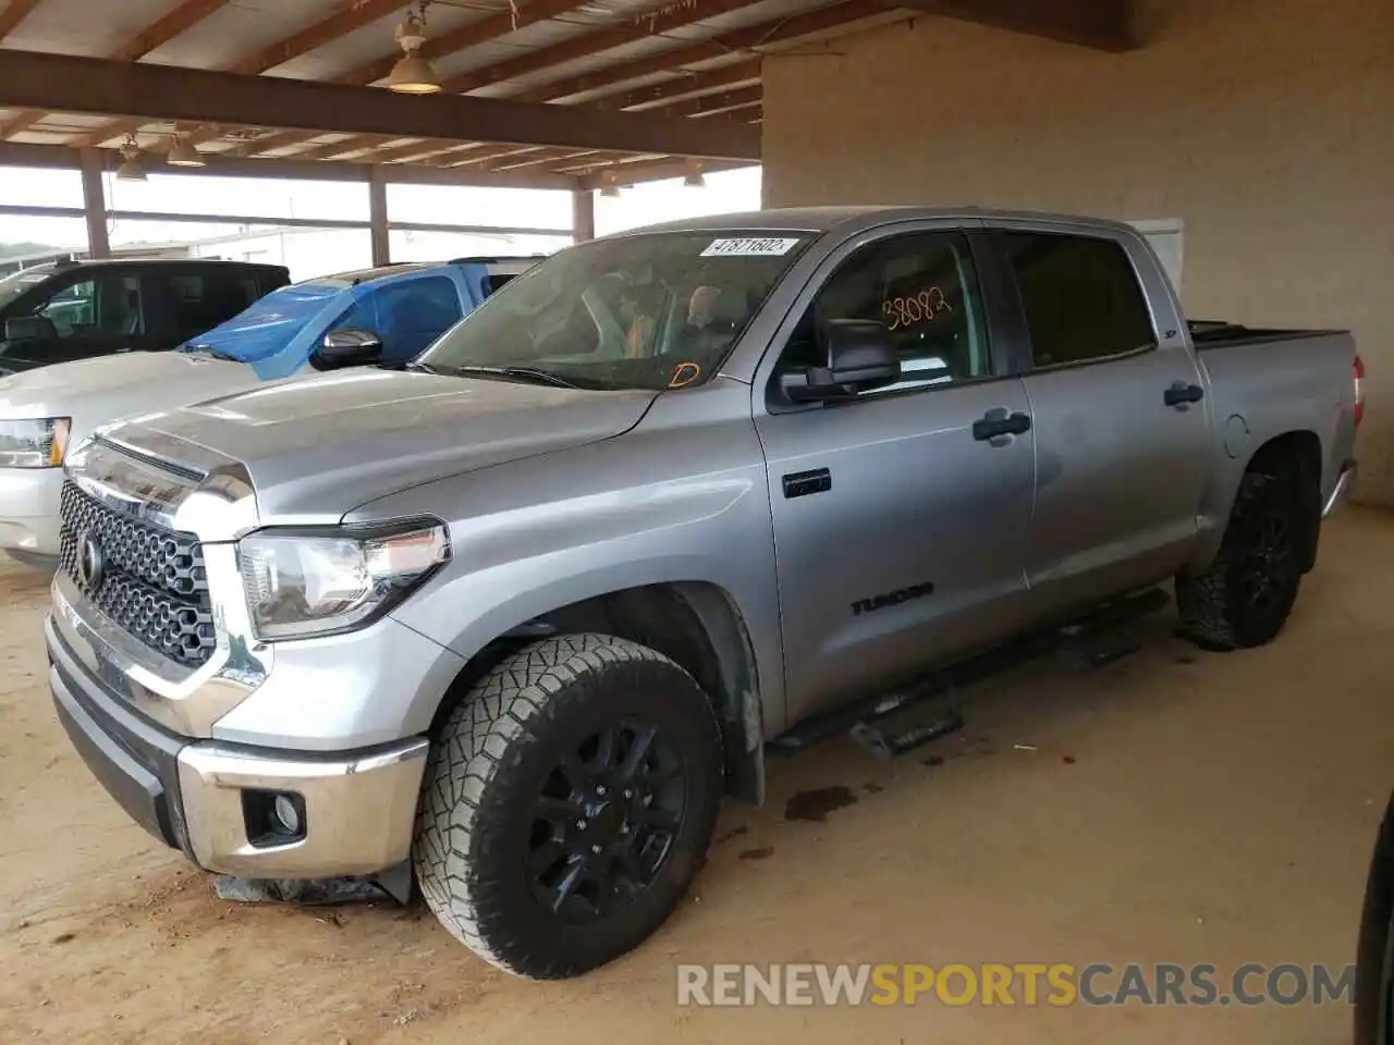
{"type": "Polygon", "coordinates": [[[633,950],[672,914],[711,843],[721,794],[721,729],[687,672],[613,635],[548,638],[489,672],[446,720],[422,784],[417,881],[441,924],[493,966],[535,980],[579,975],[633,950]],[[680,752],[684,812],[644,892],[598,921],[567,924],[526,872],[535,803],[577,736],[633,715],[680,752]]]}

